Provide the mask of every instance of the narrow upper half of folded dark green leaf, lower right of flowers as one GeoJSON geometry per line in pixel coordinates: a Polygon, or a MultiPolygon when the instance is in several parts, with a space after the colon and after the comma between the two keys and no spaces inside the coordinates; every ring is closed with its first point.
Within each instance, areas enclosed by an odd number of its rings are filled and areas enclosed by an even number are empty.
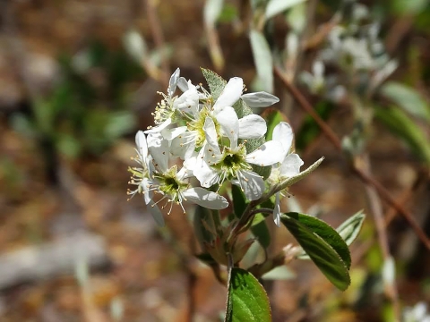
{"type": "Polygon", "coordinates": [[[300,224],[305,225],[311,232],[316,233],[327,242],[333,250],[335,250],[347,268],[351,267],[351,254],[349,253],[348,245],[344,242],[340,234],[336,232],[330,225],[327,225],[323,220],[314,216],[290,212],[285,214],[296,219],[300,224]]]}

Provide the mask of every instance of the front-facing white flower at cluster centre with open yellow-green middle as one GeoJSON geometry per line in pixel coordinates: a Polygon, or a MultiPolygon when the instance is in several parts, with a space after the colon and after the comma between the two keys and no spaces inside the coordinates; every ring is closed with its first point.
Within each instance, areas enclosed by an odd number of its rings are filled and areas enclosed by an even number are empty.
{"type": "Polygon", "coordinates": [[[252,171],[250,164],[266,166],[280,162],[283,157],[282,145],[271,140],[248,154],[245,145],[238,145],[237,140],[243,136],[254,139],[262,137],[266,131],[264,120],[253,114],[245,116],[240,122],[230,106],[222,108],[221,115],[219,119],[229,139],[229,146],[221,146],[222,150],[219,148],[215,124],[209,119],[203,126],[207,145],[197,156],[186,160],[185,164],[193,169],[193,174],[203,187],[217,183],[220,185],[226,179],[236,179],[247,199],[259,199],[264,191],[264,182],[261,175],[252,171]]]}

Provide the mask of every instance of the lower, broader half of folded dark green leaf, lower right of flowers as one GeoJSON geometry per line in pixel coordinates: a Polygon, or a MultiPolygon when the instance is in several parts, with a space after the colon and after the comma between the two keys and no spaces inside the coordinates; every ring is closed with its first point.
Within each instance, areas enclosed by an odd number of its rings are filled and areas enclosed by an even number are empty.
{"type": "Polygon", "coordinates": [[[323,238],[312,232],[297,219],[282,215],[280,221],[297,239],[307,255],[321,270],[332,284],[341,291],[345,291],[350,284],[348,267],[340,255],[323,238]]]}

